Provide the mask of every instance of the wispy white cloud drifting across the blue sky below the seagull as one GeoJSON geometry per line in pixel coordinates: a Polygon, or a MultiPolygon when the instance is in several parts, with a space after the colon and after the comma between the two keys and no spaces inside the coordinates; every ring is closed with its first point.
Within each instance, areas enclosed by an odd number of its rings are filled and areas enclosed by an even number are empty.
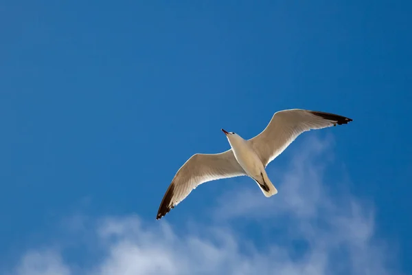
{"type": "Polygon", "coordinates": [[[373,208],[325,179],[329,146],[330,140],[312,138],[290,166],[269,168],[279,190],[271,199],[238,178],[245,184],[217,200],[209,224],[106,217],[91,229],[99,260],[78,268],[60,252],[33,250],[14,274],[396,274],[387,246],[374,236],[373,208]]]}

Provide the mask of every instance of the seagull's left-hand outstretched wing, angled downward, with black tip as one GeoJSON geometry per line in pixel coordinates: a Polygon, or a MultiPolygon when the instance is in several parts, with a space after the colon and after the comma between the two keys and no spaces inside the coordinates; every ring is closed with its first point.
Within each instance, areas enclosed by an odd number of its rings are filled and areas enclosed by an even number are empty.
{"type": "Polygon", "coordinates": [[[215,179],[246,175],[229,149],[218,154],[195,154],[187,159],[174,176],[160,203],[156,219],[161,219],[199,184],[215,179]]]}

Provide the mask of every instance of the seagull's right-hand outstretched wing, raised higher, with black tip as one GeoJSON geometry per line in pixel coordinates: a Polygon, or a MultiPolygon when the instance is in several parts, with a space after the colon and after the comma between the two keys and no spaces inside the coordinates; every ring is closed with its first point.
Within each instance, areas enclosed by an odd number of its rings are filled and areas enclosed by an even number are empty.
{"type": "Polygon", "coordinates": [[[264,166],[280,155],[298,135],[312,129],[347,124],[352,121],[334,113],[290,109],[278,111],[266,128],[249,140],[264,166]]]}

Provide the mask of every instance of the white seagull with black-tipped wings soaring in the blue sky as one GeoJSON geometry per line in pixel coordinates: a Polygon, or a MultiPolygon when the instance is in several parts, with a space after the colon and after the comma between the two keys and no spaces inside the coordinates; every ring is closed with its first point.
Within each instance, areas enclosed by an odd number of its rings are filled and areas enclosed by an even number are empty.
{"type": "Polygon", "coordinates": [[[250,140],[225,131],[231,149],[217,154],[196,153],[187,159],[172,179],[161,200],[156,219],[161,219],[200,184],[216,179],[249,176],[265,197],[277,194],[266,174],[266,166],[301,133],[347,124],[352,119],[334,113],[288,109],[277,111],[266,128],[250,140]]]}

